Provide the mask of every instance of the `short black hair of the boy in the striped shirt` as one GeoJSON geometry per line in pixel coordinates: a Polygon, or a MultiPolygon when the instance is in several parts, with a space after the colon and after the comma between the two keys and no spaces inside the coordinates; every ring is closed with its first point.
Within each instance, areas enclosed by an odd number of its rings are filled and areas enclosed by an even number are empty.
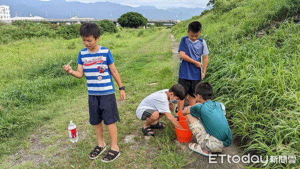
{"type": "Polygon", "coordinates": [[[93,35],[96,39],[100,36],[100,29],[95,23],[82,23],[79,32],[81,37],[93,35]]]}

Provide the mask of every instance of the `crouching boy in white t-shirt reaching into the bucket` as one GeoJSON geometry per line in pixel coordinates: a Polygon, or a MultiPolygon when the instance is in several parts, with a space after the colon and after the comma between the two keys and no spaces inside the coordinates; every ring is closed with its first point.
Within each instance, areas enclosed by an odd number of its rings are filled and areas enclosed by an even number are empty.
{"type": "Polygon", "coordinates": [[[146,96],[136,108],[136,116],[145,120],[141,128],[144,135],[154,136],[151,128],[164,128],[165,124],[158,121],[164,115],[175,126],[182,128],[177,118],[171,114],[173,103],[183,100],[185,89],[181,84],[174,84],[170,89],[163,89],[146,96]]]}

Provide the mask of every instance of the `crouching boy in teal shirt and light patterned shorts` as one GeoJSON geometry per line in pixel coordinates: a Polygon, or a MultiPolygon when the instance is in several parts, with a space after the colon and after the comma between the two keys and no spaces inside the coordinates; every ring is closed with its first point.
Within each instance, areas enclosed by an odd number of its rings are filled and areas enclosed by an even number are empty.
{"type": "Polygon", "coordinates": [[[186,114],[189,128],[197,139],[197,144],[190,143],[188,147],[204,156],[211,152],[221,152],[232,141],[222,104],[211,100],[212,85],[207,81],[196,84],[194,95],[198,103],[186,107],[182,112],[186,114]]]}

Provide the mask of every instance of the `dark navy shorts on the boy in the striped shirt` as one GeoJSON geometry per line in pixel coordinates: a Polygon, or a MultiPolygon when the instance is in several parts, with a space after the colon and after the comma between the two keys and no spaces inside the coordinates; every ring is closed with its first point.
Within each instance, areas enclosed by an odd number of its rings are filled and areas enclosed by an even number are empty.
{"type": "Polygon", "coordinates": [[[105,125],[120,121],[114,93],[107,95],[88,95],[89,123],[97,125],[102,120],[105,125]]]}

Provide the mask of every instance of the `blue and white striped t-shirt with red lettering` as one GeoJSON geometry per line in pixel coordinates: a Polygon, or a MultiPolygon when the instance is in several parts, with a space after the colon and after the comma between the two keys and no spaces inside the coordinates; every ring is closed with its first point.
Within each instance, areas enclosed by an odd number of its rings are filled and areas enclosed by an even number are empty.
{"type": "Polygon", "coordinates": [[[110,50],[100,46],[95,52],[87,48],[80,50],[77,63],[83,65],[83,72],[89,95],[106,95],[115,92],[108,65],[113,63],[110,50]]]}

